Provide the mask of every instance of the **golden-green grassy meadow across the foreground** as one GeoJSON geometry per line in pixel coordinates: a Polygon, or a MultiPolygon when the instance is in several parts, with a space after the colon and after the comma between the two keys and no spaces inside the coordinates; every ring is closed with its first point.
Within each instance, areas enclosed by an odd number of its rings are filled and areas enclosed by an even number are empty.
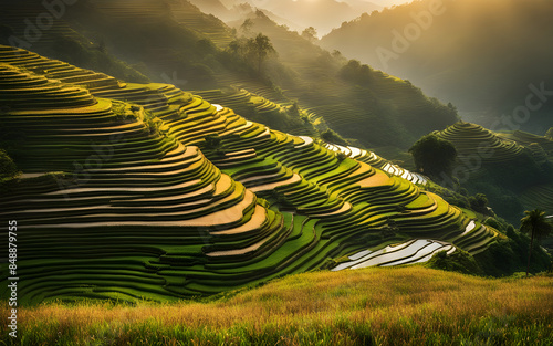
{"type": "MultiPolygon", "coordinates": [[[[22,345],[552,345],[553,277],[422,266],[292,275],[227,297],[19,310],[22,345]]],[[[3,304],[2,318],[8,317],[3,304]]],[[[1,335],[14,345],[6,324],[1,335]]]]}

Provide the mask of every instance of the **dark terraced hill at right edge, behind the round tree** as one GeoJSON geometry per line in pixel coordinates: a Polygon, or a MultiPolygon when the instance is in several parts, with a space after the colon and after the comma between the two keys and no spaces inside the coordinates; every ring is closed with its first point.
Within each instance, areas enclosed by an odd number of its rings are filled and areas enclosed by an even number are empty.
{"type": "MultiPolygon", "coordinates": [[[[458,153],[453,176],[471,193],[486,193],[501,217],[517,224],[524,210],[553,213],[553,140],[524,132],[494,133],[457,123],[436,133],[458,153]]],[[[438,181],[453,187],[449,179],[438,181]]]]}

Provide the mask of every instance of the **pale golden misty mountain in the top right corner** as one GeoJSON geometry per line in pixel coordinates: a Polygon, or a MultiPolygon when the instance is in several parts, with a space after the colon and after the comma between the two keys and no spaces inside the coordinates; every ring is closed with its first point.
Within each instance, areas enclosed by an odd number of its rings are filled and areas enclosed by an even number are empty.
{"type": "MultiPolygon", "coordinates": [[[[553,90],[553,3],[546,0],[446,0],[429,12],[432,1],[363,14],[323,38],[326,49],[359,59],[375,69],[406,78],[430,95],[458,106],[466,119],[491,127],[494,119],[524,106],[533,85],[553,90]],[[415,15],[415,17],[414,17],[415,15]],[[431,23],[430,23],[431,20],[431,23]],[[409,39],[405,38],[405,30],[409,39]],[[406,41],[405,41],[406,40],[406,41]]],[[[495,129],[539,134],[553,125],[553,103],[534,99],[525,114],[495,129]],[[520,127],[520,128],[519,128],[520,127]]]]}

